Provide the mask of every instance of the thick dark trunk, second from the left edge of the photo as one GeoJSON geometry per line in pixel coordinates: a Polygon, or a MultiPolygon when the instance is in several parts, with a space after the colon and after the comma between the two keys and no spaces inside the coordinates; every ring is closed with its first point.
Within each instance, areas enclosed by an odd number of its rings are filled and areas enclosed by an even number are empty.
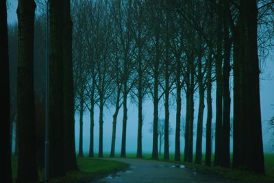
{"type": "Polygon", "coordinates": [[[18,1],[18,172],[16,182],[38,181],[34,110],[34,14],[36,3],[18,1]]]}

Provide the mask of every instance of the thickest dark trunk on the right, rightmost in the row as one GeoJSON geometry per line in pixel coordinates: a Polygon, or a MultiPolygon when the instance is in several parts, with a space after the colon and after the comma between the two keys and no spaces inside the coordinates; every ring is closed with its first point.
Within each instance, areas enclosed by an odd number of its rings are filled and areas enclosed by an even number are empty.
{"type": "Polygon", "coordinates": [[[240,169],[264,173],[262,122],[260,112],[260,69],[258,60],[257,1],[240,1],[239,69],[240,69],[240,169]]]}

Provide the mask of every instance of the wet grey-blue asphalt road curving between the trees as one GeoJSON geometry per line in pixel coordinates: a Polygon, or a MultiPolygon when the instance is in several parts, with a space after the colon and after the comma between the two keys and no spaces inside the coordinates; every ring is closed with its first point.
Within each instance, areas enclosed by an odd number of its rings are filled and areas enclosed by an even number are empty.
{"type": "Polygon", "coordinates": [[[212,175],[197,173],[195,169],[188,169],[182,164],[171,162],[160,162],[156,160],[142,160],[132,158],[102,158],[103,160],[116,160],[131,164],[124,170],[109,175],[106,178],[98,180],[97,183],[105,182],[145,182],[145,183],[162,183],[162,182],[234,182],[232,180],[223,180],[214,178],[212,175]]]}

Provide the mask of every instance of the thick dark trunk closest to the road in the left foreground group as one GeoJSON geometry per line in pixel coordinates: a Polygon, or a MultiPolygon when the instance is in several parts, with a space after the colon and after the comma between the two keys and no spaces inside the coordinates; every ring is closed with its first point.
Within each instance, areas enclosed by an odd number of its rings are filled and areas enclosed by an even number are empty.
{"type": "Polygon", "coordinates": [[[64,56],[64,166],[66,171],[78,170],[75,153],[74,94],[71,1],[64,0],[63,56],[64,56]]]}

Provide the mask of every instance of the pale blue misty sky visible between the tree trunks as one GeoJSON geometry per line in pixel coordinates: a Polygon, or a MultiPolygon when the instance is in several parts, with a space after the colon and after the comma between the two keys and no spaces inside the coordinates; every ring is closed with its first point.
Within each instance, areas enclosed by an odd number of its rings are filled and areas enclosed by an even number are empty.
{"type": "MultiPolygon", "coordinates": [[[[17,0],[8,0],[8,23],[12,24],[17,21],[16,16],[16,7],[17,0]]],[[[271,134],[267,132],[267,120],[271,119],[274,116],[274,50],[271,51],[269,56],[264,60],[264,69],[260,75],[260,97],[261,97],[261,112],[262,112],[262,135],[264,142],[264,153],[274,152],[274,149],[269,148],[269,140],[271,134]]],[[[231,82],[232,86],[232,82],[231,82]]],[[[232,90],[232,88],[231,88],[232,90]]],[[[213,119],[215,121],[215,90],[212,90],[212,107],[213,107],[213,119]]],[[[186,99],[185,95],[182,96],[182,114],[183,117],[186,116],[186,99]]],[[[197,112],[199,98],[196,94],[195,96],[195,123],[197,123],[197,112]]],[[[128,154],[135,154],[137,151],[137,128],[138,128],[138,108],[136,104],[128,102],[128,114],[127,114],[127,141],[126,141],[126,151],[128,154]]],[[[159,117],[164,119],[164,105],[163,101],[159,105],[159,117]]],[[[174,100],[171,102],[170,108],[170,123],[175,132],[175,116],[176,116],[176,106],[174,100]]],[[[206,126],[206,110],[204,111],[203,116],[203,126],[206,126]]],[[[233,110],[233,109],[232,109],[233,110]]],[[[112,115],[114,113],[114,108],[109,106],[104,110],[103,116],[103,152],[108,154],[110,152],[111,145],[111,136],[112,136],[112,115]]],[[[144,121],[142,127],[142,150],[143,153],[151,153],[152,151],[152,134],[149,133],[149,128],[151,128],[151,122],[153,121],[153,103],[151,100],[147,99],[143,103],[143,114],[144,121]]],[[[123,119],[123,110],[120,110],[119,116],[117,119],[117,128],[116,128],[116,153],[119,154],[121,151],[121,136],[122,136],[122,119],[123,119]]],[[[95,109],[95,153],[98,152],[99,147],[99,109],[95,109]]],[[[197,125],[196,125],[197,126],[197,125]]],[[[88,153],[89,148],[89,138],[90,138],[90,117],[89,113],[84,114],[84,153],[88,153]]],[[[181,138],[182,139],[182,138],[181,138]]],[[[206,138],[203,137],[203,151],[205,151],[206,138]]],[[[231,139],[232,141],[232,139],[231,139]]],[[[193,139],[194,142],[194,151],[196,138],[193,139]]],[[[75,114],[75,145],[76,151],[79,147],[79,115],[75,114]]],[[[181,143],[181,150],[183,152],[184,144],[181,143]]],[[[232,147],[232,145],[231,145],[232,147]]],[[[232,149],[232,148],[231,148],[232,149]]],[[[170,151],[173,153],[175,151],[175,133],[170,136],[170,151]]]]}

